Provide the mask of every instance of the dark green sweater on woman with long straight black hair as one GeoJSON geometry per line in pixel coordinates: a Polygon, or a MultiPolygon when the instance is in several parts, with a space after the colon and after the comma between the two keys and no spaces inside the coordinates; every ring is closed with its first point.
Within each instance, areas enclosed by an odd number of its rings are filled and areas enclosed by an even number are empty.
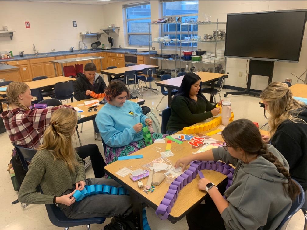
{"type": "Polygon", "coordinates": [[[204,97],[197,95],[197,102],[191,102],[185,96],[175,96],[171,103],[171,116],[166,125],[168,131],[179,131],[212,117],[215,108],[204,97]]]}

